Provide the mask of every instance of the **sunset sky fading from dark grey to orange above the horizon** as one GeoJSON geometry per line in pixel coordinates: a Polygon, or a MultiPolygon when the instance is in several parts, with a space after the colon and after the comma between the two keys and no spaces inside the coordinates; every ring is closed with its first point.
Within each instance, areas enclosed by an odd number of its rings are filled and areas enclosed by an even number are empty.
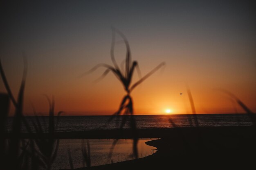
{"type": "MultiPolygon", "coordinates": [[[[1,2],[0,59],[14,96],[28,62],[24,112],[47,114],[45,95],[65,115],[109,115],[126,95],[105,71],[81,77],[99,63],[112,65],[111,27],[130,44],[142,76],[166,65],[131,93],[135,114],[243,113],[220,90],[256,112],[256,12],[253,1],[54,1],[1,2]],[[182,95],[180,95],[182,93],[182,95]]],[[[119,65],[126,48],[117,37],[119,65]]],[[[133,83],[138,81],[134,74],[133,83]]],[[[6,92],[0,81],[0,92],[6,92]]],[[[10,109],[10,115],[13,107],[10,109]]]]}

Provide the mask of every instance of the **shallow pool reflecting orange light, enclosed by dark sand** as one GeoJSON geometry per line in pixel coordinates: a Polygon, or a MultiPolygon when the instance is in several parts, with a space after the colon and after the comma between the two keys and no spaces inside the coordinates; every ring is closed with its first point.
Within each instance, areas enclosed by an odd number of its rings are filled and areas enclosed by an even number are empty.
{"type": "MultiPolygon", "coordinates": [[[[139,157],[146,157],[148,155],[152,155],[155,152],[153,146],[148,146],[145,142],[151,139],[139,139],[138,142],[138,151],[139,157]]],[[[132,139],[119,139],[115,148],[113,150],[113,154],[111,159],[108,157],[110,152],[110,148],[113,143],[113,139],[89,139],[90,150],[91,150],[91,163],[92,166],[103,165],[111,162],[120,162],[126,161],[130,159],[134,159],[130,157],[132,153],[132,139]]],[[[70,148],[72,160],[74,164],[74,168],[83,167],[82,163],[82,152],[81,152],[81,142],[82,139],[61,139],[60,145],[58,148],[58,153],[56,160],[52,165],[52,170],[58,170],[59,168],[70,168],[69,157],[67,153],[67,148],[70,148]]]]}

